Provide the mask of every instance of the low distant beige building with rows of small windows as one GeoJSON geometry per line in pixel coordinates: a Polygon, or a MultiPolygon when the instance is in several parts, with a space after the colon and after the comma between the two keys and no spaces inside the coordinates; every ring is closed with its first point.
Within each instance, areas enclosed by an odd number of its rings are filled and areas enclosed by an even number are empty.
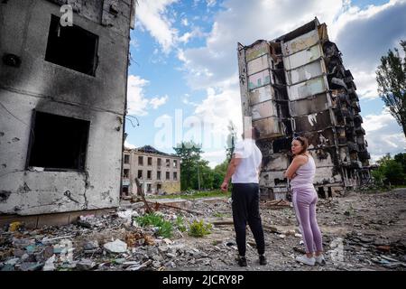
{"type": "Polygon", "coordinates": [[[125,149],[123,198],[130,195],[180,192],[180,157],[151,145],[125,149]]]}

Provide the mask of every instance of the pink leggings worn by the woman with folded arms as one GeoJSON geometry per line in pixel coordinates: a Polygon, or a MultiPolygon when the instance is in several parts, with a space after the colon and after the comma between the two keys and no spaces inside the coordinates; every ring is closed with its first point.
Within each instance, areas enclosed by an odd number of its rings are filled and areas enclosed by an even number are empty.
{"type": "Polygon", "coordinates": [[[292,202],[307,253],[323,251],[320,229],[316,219],[318,194],[314,188],[292,189],[292,202]]]}

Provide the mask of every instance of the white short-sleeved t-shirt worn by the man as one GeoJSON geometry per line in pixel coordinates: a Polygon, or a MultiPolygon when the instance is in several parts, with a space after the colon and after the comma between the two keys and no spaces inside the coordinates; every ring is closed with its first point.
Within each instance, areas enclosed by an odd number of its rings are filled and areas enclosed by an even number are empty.
{"type": "Polygon", "coordinates": [[[263,154],[256,146],[255,141],[247,138],[235,144],[235,158],[241,158],[241,163],[235,169],[231,182],[258,183],[258,168],[262,163],[263,154]]]}

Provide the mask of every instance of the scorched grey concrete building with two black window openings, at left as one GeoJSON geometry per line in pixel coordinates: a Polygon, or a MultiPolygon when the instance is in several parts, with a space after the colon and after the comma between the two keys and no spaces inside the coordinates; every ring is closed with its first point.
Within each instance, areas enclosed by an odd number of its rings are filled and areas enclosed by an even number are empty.
{"type": "Polygon", "coordinates": [[[135,3],[0,3],[3,223],[33,215],[27,225],[40,227],[119,205],[135,3]]]}

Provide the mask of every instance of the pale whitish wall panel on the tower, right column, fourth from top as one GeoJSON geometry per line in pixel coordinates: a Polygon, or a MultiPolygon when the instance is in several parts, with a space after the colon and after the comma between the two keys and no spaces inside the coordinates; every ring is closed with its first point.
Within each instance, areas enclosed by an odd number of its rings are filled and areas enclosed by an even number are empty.
{"type": "Polygon", "coordinates": [[[317,95],[327,91],[327,89],[325,79],[323,77],[319,77],[317,79],[310,79],[308,81],[289,86],[288,94],[289,99],[296,100],[317,95]]]}

